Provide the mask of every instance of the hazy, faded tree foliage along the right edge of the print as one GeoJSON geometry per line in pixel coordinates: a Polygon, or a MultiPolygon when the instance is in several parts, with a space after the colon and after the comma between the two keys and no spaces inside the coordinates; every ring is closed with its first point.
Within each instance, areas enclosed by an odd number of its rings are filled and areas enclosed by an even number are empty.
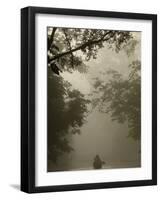
{"type": "Polygon", "coordinates": [[[93,105],[99,105],[101,112],[109,113],[112,120],[119,123],[128,122],[129,136],[140,139],[141,135],[141,79],[140,61],[129,65],[130,73],[127,79],[115,71],[107,72],[107,82],[95,80],[95,92],[100,91],[101,97],[93,100],[93,105]]]}

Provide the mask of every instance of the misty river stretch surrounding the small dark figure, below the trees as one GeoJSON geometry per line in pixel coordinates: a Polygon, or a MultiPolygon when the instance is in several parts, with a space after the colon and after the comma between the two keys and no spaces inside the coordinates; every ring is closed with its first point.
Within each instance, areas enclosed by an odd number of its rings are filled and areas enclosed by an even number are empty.
{"type": "Polygon", "coordinates": [[[74,151],[61,156],[49,171],[93,169],[98,154],[105,162],[103,168],[140,167],[140,143],[128,135],[127,124],[111,121],[110,116],[95,109],[86,119],[81,134],[71,135],[74,151]]]}

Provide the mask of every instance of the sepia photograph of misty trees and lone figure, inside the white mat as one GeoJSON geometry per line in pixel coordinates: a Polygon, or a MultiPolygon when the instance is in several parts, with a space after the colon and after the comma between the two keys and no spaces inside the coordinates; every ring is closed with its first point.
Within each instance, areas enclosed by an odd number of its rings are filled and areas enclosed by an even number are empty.
{"type": "Polygon", "coordinates": [[[47,171],[141,167],[141,32],[46,37],[47,171]]]}

